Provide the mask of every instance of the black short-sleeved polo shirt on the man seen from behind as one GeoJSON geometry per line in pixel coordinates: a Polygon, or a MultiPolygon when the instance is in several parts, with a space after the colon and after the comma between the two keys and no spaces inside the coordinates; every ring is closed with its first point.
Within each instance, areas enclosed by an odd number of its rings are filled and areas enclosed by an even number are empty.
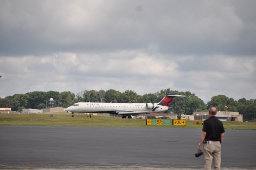
{"type": "Polygon", "coordinates": [[[206,132],[205,139],[212,141],[220,141],[221,135],[225,132],[223,124],[215,116],[211,116],[208,119],[204,120],[203,131],[206,132]]]}

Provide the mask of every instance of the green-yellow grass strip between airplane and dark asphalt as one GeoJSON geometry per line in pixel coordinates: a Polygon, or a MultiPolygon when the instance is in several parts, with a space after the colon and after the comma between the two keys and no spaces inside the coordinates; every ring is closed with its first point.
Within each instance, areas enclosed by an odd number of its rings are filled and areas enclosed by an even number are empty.
{"type": "MultiPolygon", "coordinates": [[[[103,126],[103,127],[145,127],[145,128],[202,128],[193,125],[192,120],[186,121],[186,126],[147,126],[145,119],[122,119],[108,115],[92,116],[70,115],[57,112],[46,114],[0,114],[0,126],[103,126]],[[49,115],[53,114],[53,117],[49,115]]],[[[223,122],[225,129],[256,130],[256,122],[223,122]]]]}

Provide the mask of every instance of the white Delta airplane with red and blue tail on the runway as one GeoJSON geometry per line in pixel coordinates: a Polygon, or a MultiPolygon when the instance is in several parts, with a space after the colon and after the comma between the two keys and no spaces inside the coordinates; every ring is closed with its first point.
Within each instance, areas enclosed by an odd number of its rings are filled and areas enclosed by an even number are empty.
{"type": "Polygon", "coordinates": [[[72,114],[74,112],[87,113],[110,113],[123,115],[122,118],[131,119],[138,114],[148,114],[163,112],[170,109],[170,104],[175,97],[186,97],[168,93],[159,103],[96,103],[96,102],[78,102],[69,106],[65,110],[72,114]]]}

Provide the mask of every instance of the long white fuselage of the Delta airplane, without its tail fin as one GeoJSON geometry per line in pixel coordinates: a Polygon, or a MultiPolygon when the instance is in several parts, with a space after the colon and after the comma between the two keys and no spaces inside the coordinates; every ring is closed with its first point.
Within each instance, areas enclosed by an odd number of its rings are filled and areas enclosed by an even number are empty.
{"type": "Polygon", "coordinates": [[[118,112],[162,112],[168,110],[168,106],[160,106],[154,104],[154,108],[147,108],[146,103],[93,103],[93,102],[79,102],[66,108],[68,112],[102,112],[118,114],[118,112]]]}

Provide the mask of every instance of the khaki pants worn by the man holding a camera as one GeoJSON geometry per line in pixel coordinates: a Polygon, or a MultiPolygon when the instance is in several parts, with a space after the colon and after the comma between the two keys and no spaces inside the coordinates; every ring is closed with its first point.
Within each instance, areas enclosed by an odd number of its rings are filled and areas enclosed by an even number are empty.
{"type": "Polygon", "coordinates": [[[212,144],[204,144],[204,168],[211,169],[212,159],[214,170],[220,170],[220,141],[212,141],[212,144]]]}

